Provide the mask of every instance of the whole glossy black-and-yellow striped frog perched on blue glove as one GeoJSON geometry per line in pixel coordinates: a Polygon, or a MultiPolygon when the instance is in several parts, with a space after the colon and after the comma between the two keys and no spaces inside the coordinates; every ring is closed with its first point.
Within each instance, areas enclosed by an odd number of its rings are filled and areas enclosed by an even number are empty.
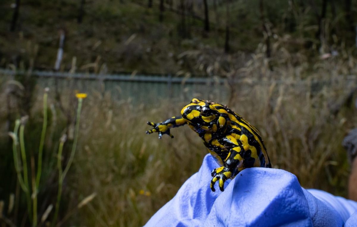
{"type": "Polygon", "coordinates": [[[243,169],[272,167],[259,131],[226,105],[193,98],[181,109],[181,115],[147,124],[153,128],[146,134],[158,133],[159,139],[165,134],[174,138],[170,129],[186,124],[197,133],[219,165],[211,172],[213,192],[217,181],[223,192],[225,182],[243,169]]]}

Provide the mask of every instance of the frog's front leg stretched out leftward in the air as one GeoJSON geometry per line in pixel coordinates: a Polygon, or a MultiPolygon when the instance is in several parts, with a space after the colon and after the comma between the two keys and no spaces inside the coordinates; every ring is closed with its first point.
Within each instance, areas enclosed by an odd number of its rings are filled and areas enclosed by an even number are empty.
{"type": "Polygon", "coordinates": [[[147,122],[147,124],[151,125],[154,128],[147,130],[146,134],[159,133],[159,139],[161,139],[162,135],[164,134],[167,134],[171,138],[174,138],[174,136],[170,133],[170,128],[180,127],[184,124],[187,124],[187,122],[181,116],[176,116],[169,118],[163,122],[147,122]]]}

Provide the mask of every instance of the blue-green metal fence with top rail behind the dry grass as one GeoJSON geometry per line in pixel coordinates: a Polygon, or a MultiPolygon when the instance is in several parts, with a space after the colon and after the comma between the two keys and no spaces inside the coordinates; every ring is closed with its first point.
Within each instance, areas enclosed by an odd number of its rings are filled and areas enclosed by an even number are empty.
{"type": "Polygon", "coordinates": [[[76,89],[81,92],[110,92],[115,99],[131,99],[134,102],[154,103],[158,99],[187,100],[192,97],[225,99],[226,78],[184,78],[131,74],[94,74],[53,71],[14,71],[1,69],[0,75],[26,75],[37,78],[39,87],[54,87],[61,91],[76,89]]]}

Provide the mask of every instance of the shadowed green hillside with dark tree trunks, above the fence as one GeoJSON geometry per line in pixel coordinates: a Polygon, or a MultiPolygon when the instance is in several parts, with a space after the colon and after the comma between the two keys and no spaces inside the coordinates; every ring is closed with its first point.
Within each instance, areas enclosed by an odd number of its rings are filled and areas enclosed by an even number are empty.
{"type": "Polygon", "coordinates": [[[203,26],[200,1],[165,0],[162,22],[159,0],[154,0],[150,8],[147,1],[85,1],[81,23],[77,22],[81,1],[20,2],[14,32],[9,31],[13,1],[0,4],[4,13],[0,20],[0,67],[20,67],[20,62],[31,56],[32,52],[25,51],[27,47],[37,45],[34,68],[52,69],[60,29],[66,33],[62,70],[69,70],[76,57],[79,71],[185,71],[210,76],[206,70],[209,65],[217,62],[227,72],[227,59],[228,63],[240,64],[243,60],[237,52],[249,55],[259,43],[271,57],[277,53],[270,49],[280,41],[286,42],[286,51],[308,58],[355,49],[356,0],[208,1],[208,32],[203,26]],[[228,54],[224,53],[227,26],[228,54]],[[192,62],[183,54],[187,51],[201,55],[195,55],[192,62]],[[195,65],[202,58],[207,62],[195,65]]]}

